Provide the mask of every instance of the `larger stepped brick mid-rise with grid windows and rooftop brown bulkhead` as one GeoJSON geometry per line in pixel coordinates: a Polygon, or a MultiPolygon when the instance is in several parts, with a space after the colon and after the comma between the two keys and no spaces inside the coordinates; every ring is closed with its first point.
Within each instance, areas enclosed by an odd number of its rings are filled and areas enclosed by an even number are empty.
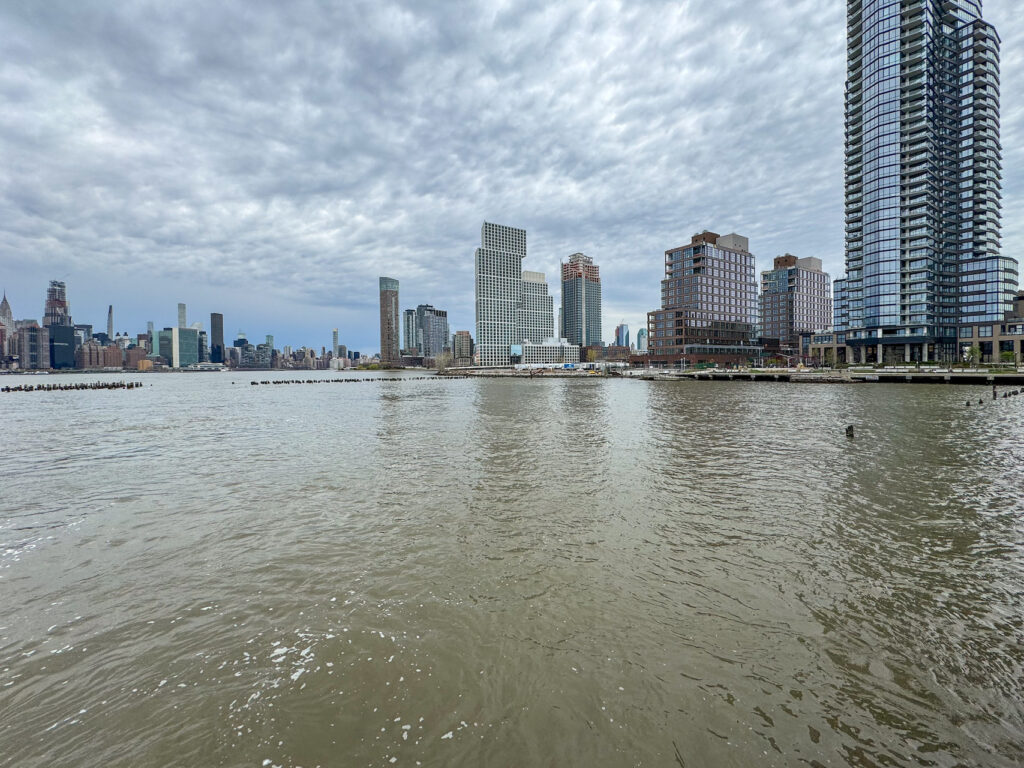
{"type": "Polygon", "coordinates": [[[665,252],[662,307],[647,313],[652,365],[744,365],[758,356],[754,262],[746,238],[707,229],[665,252]]]}

